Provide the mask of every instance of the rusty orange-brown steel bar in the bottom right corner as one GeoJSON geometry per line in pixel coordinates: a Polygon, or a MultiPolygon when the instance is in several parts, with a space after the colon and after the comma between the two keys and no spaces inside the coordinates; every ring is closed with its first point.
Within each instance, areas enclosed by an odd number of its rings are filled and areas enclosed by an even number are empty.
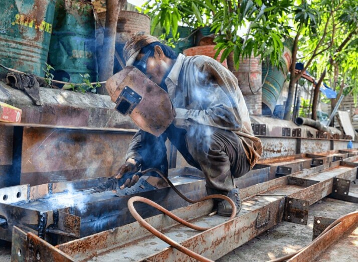
{"type": "MultiPolygon", "coordinates": [[[[287,260],[290,262],[306,262],[313,261],[322,252],[324,252],[330,245],[336,242],[345,232],[358,225],[358,216],[350,217],[330,229],[319,239],[316,239],[312,244],[305,247],[301,252],[287,260]]],[[[336,257],[339,260],[339,257],[336,257]]]]}

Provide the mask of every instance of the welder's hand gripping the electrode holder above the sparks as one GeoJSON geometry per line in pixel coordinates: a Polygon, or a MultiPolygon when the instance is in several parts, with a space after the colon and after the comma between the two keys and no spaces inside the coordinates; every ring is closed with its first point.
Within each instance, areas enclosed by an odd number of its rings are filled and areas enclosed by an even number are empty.
{"type": "Polygon", "coordinates": [[[115,175],[116,179],[121,179],[123,178],[123,176],[128,177],[125,182],[119,187],[120,189],[131,187],[138,182],[140,173],[137,172],[139,171],[139,168],[140,164],[135,159],[127,159],[127,161],[118,169],[118,172],[115,175]]]}

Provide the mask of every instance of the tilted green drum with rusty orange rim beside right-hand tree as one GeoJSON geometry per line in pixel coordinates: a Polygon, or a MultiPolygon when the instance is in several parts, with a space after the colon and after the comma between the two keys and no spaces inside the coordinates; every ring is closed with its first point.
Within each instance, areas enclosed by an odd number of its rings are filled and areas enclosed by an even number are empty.
{"type": "Polygon", "coordinates": [[[262,114],[272,115],[278,97],[281,94],[286,74],[292,62],[292,40],[288,39],[284,43],[284,50],[281,59],[283,69],[262,64],[262,114]],[[267,72],[268,71],[268,72],[267,72]],[[267,76],[266,76],[267,75],[267,76]]]}

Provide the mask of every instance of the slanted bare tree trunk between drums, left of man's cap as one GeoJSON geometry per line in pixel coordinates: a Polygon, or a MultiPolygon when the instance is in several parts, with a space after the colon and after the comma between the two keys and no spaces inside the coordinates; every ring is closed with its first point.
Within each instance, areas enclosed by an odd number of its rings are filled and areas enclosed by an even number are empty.
{"type": "MultiPolygon", "coordinates": [[[[114,52],[119,12],[126,0],[106,0],[106,26],[104,28],[103,57],[100,61],[99,81],[107,81],[113,75],[114,52]]],[[[102,85],[98,93],[108,94],[102,85]]]]}

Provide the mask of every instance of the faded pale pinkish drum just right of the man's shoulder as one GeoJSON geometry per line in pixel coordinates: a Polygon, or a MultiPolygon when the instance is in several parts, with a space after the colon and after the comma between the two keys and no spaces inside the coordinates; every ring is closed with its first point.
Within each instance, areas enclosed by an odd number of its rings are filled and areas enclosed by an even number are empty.
{"type": "Polygon", "coordinates": [[[234,67],[233,54],[228,57],[229,69],[238,79],[239,87],[244,96],[250,114],[261,114],[261,62],[260,57],[248,57],[240,60],[239,68],[234,67]]]}

